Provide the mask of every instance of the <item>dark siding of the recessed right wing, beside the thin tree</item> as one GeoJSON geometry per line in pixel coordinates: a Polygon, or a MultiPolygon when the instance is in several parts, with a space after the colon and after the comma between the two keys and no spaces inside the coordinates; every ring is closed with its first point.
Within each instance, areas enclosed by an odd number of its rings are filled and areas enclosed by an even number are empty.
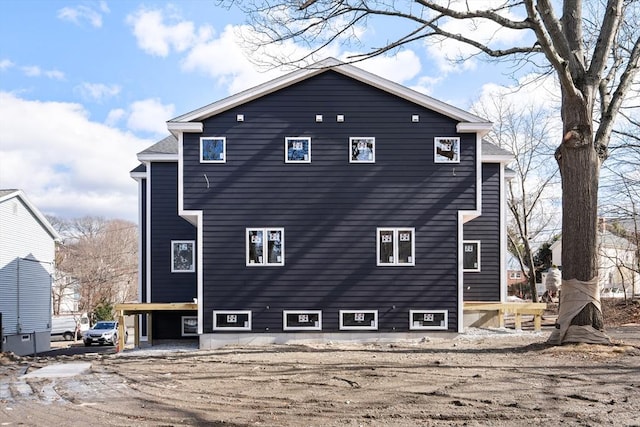
{"type": "Polygon", "coordinates": [[[465,301],[500,301],[500,164],[482,165],[482,215],[464,225],[480,241],[480,271],[464,273],[465,301]]]}

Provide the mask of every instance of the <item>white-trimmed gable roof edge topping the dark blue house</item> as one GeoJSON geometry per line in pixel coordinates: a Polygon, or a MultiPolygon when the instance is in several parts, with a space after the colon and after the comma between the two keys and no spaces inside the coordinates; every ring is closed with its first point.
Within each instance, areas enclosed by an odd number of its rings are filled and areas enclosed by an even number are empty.
{"type": "Polygon", "coordinates": [[[276,92],[282,88],[309,79],[318,74],[332,70],[351,77],[370,86],[376,87],[393,95],[404,98],[415,104],[421,105],[430,110],[439,112],[447,117],[458,121],[458,132],[478,132],[485,135],[492,126],[491,122],[486,121],[474,114],[461,110],[457,107],[438,101],[435,98],[416,92],[406,86],[392,82],[375,74],[364,71],[351,64],[338,61],[335,58],[327,58],[317,62],[307,68],[293,71],[281,77],[258,85],[254,88],[247,89],[235,95],[221,99],[220,101],[206,105],[197,110],[178,116],[167,122],[169,131],[174,135],[181,132],[201,132],[202,124],[198,123],[208,117],[220,114],[223,111],[237,107],[254,99],[276,92]]]}

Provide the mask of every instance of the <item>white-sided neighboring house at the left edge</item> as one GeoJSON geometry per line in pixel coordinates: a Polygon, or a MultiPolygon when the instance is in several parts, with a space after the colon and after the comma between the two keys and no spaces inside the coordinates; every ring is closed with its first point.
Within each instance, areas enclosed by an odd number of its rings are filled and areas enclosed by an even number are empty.
{"type": "Polygon", "coordinates": [[[51,349],[51,282],[60,236],[21,190],[0,190],[2,351],[51,349]]]}

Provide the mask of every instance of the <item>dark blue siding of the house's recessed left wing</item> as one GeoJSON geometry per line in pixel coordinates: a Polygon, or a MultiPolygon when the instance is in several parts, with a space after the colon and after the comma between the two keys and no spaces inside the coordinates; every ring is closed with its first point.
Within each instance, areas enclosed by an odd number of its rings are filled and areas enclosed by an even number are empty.
{"type": "Polygon", "coordinates": [[[150,166],[154,194],[151,202],[151,302],[191,302],[197,295],[196,273],[171,272],[171,241],[195,240],[193,225],[178,213],[178,164],[150,166]]]}

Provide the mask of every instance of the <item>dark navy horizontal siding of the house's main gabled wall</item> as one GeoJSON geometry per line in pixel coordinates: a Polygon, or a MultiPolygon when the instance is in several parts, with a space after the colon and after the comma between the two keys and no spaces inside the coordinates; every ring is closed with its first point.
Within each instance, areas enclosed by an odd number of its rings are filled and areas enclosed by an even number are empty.
{"type": "Polygon", "coordinates": [[[252,310],[254,331],[282,330],[282,310],[323,310],[333,331],[338,310],[375,309],[379,330],[405,331],[410,309],[444,309],[457,329],[457,221],[476,208],[474,134],[330,71],[184,138],[184,208],[204,211],[205,333],[214,309],[252,310]],[[199,163],[200,136],[227,138],[226,163],[199,163]],[[312,138],[311,164],[285,164],[287,136],[312,138]],[[357,136],[376,138],[374,164],[349,163],[357,136]],[[461,138],[460,163],[434,163],[436,136],[461,138]],[[246,227],[284,228],[285,266],[246,267],[246,227]],[[415,267],[376,266],[377,227],[415,227],[415,267]]]}

